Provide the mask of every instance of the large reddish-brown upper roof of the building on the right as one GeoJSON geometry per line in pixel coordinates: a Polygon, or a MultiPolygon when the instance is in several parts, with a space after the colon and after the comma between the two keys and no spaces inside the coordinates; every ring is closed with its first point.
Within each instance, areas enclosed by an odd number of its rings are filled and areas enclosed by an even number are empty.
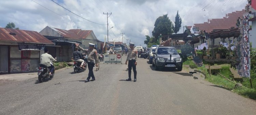
{"type": "Polygon", "coordinates": [[[198,27],[202,31],[212,32],[214,29],[230,29],[236,27],[238,17],[242,17],[246,13],[245,10],[236,11],[226,14],[226,17],[221,19],[208,19],[208,22],[203,24],[194,24],[194,27],[198,27]]]}

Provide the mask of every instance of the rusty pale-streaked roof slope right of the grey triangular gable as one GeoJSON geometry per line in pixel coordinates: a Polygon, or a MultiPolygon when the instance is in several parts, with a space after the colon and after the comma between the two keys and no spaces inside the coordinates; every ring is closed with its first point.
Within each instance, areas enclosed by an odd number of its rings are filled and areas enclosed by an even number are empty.
{"type": "Polygon", "coordinates": [[[59,29],[59,28],[53,28],[53,27],[50,27],[50,28],[52,28],[53,30],[55,30],[56,32],[58,32],[65,38],[82,39],[79,35],[76,35],[72,31],[63,30],[63,29],[59,29]]]}

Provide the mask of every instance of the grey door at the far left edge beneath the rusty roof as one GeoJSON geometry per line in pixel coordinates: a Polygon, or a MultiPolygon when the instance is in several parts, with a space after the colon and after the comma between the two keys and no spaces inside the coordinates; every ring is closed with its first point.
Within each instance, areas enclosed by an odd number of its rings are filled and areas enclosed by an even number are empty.
{"type": "Polygon", "coordinates": [[[0,73],[8,73],[8,46],[0,45],[0,73]]]}

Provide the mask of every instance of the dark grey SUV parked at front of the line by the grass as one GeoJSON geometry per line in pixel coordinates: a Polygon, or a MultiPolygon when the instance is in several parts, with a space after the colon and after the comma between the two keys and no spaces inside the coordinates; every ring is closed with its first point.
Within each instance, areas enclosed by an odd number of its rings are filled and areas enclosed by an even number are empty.
{"type": "Polygon", "coordinates": [[[182,71],[182,58],[175,47],[159,46],[153,52],[153,55],[152,66],[155,67],[155,70],[159,68],[177,68],[178,71],[182,71]]]}

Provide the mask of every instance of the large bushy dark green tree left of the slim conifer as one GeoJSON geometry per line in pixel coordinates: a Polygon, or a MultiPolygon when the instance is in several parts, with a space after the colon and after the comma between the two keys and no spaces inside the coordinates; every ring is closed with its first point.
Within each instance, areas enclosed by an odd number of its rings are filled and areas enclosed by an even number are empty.
{"type": "Polygon", "coordinates": [[[152,31],[153,37],[159,40],[159,35],[162,34],[162,40],[167,40],[167,35],[172,34],[172,22],[169,17],[166,15],[160,16],[155,21],[155,28],[152,31]]]}

